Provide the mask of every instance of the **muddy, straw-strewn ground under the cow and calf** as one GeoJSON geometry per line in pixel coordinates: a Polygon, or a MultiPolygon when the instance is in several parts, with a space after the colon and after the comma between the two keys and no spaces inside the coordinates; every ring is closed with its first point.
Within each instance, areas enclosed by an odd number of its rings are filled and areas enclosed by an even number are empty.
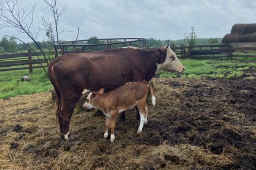
{"type": "Polygon", "coordinates": [[[156,106],[103,139],[104,116],[75,109],[59,138],[51,93],[0,100],[0,169],[255,169],[256,70],[227,80],[153,79],[156,106]],[[248,74],[247,74],[248,75],[248,74]]]}

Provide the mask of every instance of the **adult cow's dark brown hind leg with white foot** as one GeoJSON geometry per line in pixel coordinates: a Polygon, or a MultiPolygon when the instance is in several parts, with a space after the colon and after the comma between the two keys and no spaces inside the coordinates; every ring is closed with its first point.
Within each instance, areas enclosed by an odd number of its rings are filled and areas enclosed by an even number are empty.
{"type": "Polygon", "coordinates": [[[68,139],[70,137],[69,122],[71,120],[71,116],[75,108],[76,102],[77,100],[64,99],[62,99],[62,101],[60,102],[60,108],[57,117],[59,119],[60,132],[62,133],[65,139],[68,139]]]}

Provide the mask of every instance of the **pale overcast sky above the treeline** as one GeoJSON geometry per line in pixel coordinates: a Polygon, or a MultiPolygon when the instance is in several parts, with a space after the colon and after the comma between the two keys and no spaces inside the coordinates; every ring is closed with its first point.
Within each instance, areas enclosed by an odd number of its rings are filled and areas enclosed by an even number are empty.
{"type": "MultiPolygon", "coordinates": [[[[1,2],[5,0],[0,0],[1,2]]],[[[36,2],[34,25],[41,17],[52,18],[43,0],[18,0],[20,6],[36,2]]],[[[80,25],[79,40],[98,38],[145,37],[161,40],[184,38],[194,27],[198,38],[223,37],[236,23],[256,23],[254,0],[58,0],[67,11],[59,22],[62,40],[75,40],[76,24],[80,25]]],[[[14,28],[1,28],[3,35],[16,35],[28,41],[14,28]]],[[[38,40],[46,40],[41,32],[38,40]]]]}

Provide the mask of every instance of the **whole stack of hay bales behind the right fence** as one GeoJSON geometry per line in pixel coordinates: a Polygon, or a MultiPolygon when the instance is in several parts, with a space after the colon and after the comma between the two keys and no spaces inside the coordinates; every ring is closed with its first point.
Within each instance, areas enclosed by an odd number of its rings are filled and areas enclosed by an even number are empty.
{"type": "Polygon", "coordinates": [[[231,34],[226,34],[222,44],[236,42],[256,42],[256,24],[235,24],[231,34]]]}

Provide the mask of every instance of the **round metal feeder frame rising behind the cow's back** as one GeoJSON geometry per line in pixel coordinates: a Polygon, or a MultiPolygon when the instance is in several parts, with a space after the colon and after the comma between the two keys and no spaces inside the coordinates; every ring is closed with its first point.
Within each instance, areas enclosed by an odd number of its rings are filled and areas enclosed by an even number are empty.
{"type": "MultiPolygon", "coordinates": [[[[125,46],[135,46],[146,48],[146,38],[102,38],[94,40],[78,40],[57,42],[55,51],[61,50],[61,54],[66,53],[85,53],[88,51],[104,50],[125,46]]],[[[55,53],[55,57],[58,53],[55,53]]]]}

